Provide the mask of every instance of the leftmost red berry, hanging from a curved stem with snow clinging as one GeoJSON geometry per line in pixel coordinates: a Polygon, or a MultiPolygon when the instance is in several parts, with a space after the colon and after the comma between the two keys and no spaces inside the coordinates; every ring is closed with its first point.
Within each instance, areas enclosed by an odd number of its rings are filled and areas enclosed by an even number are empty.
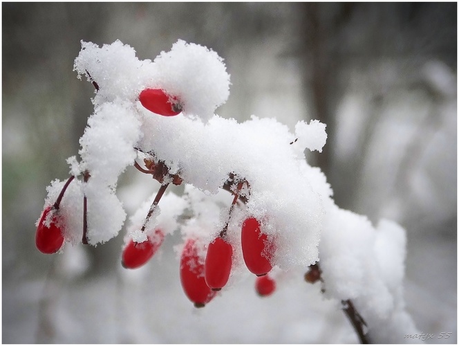
{"type": "Polygon", "coordinates": [[[35,233],[35,245],[42,253],[57,253],[64,243],[62,230],[57,226],[56,214],[52,215],[49,227],[45,225],[49,213],[55,213],[55,211],[56,209],[52,207],[46,208],[38,223],[37,233],[35,233]]]}

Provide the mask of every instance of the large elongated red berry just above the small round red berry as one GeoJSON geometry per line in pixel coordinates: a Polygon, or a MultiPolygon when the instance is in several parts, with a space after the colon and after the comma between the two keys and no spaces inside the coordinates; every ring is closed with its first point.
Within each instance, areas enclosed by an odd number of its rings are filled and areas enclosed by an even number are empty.
{"type": "Polygon", "coordinates": [[[259,221],[254,217],[245,219],[242,225],[241,245],[244,262],[249,271],[265,275],[272,269],[273,245],[268,235],[261,233],[259,221]]]}

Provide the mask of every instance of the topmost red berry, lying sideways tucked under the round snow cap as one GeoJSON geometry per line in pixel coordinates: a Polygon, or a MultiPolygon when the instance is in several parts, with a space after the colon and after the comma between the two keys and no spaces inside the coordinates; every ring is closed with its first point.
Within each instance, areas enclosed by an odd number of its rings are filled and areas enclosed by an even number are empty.
{"type": "Polygon", "coordinates": [[[139,100],[143,107],[161,116],[176,116],[182,111],[177,99],[169,97],[161,89],[144,89],[139,100]]]}

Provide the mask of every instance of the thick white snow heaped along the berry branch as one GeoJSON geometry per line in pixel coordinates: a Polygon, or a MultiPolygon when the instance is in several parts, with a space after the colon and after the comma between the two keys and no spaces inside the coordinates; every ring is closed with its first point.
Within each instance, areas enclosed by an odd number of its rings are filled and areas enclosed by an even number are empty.
{"type": "MultiPolygon", "coordinates": [[[[138,60],[134,49],[120,41],[102,47],[82,42],[74,69],[97,92],[94,113],[79,140],[79,161],[68,159],[71,174],[86,178],[71,182],[59,208],[67,243],[82,239],[84,197],[88,243],[118,235],[126,219],[115,194],[118,177],[134,161],[161,163],[167,170],[162,183],[179,176],[185,194],[165,194],[145,219],[153,194],[130,217],[126,243],[144,242],[157,228],[164,235],[180,230],[184,240],[196,239],[205,251],[227,224],[234,248],[230,287],[247,273],[239,245],[241,224],[255,217],[275,243],[275,271],[305,271],[319,262],[326,297],[353,300],[375,340],[384,342],[391,335],[400,342],[397,336],[415,330],[402,292],[404,230],[387,220],[375,227],[366,217],[338,208],[326,176],[304,158],[305,149],[321,152],[325,124],[300,121],[291,133],[275,119],[252,116],[238,123],[221,118],[215,111],[229,96],[223,59],[181,40],[153,61],[138,60]],[[160,116],[144,108],[139,100],[144,89],[164,91],[180,102],[182,113],[160,116]],[[238,191],[237,181],[244,182],[238,191]],[[246,201],[230,218],[233,196],[223,187],[246,201]]],[[[63,185],[51,183],[45,208],[63,185]]],[[[181,248],[176,246],[179,253],[181,248]]]]}

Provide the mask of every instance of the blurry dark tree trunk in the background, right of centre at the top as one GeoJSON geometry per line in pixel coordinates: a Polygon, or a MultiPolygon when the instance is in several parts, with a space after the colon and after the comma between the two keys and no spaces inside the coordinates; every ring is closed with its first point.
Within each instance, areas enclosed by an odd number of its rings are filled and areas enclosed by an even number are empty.
{"type": "MultiPolygon", "coordinates": [[[[342,94],[339,71],[344,65],[339,47],[339,33],[352,13],[353,5],[301,4],[301,46],[303,85],[306,99],[312,103],[312,118],[324,122],[328,134],[327,145],[312,159],[313,165],[330,176],[330,161],[335,137],[335,109],[342,94]]],[[[316,153],[317,154],[317,153],[316,153]]]]}

